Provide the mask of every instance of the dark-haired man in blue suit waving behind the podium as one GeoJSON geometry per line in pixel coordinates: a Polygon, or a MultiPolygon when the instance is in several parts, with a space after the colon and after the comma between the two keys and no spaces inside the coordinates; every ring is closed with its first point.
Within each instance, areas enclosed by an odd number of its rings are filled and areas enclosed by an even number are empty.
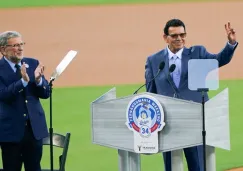
{"type": "MultiPolygon", "coordinates": [[[[207,52],[203,46],[185,47],[186,27],[179,19],[169,20],[164,27],[164,40],[168,44],[163,50],[147,58],[145,65],[146,91],[170,97],[201,102],[201,93],[188,88],[189,59],[216,59],[219,67],[228,64],[238,45],[236,34],[230,23],[225,24],[228,42],[218,54],[207,52]],[[153,80],[158,72],[158,65],[164,61],[165,67],[160,75],[153,80]],[[173,72],[169,68],[176,65],[173,72]],[[153,80],[153,81],[151,81],[153,80]]],[[[208,100],[208,96],[205,96],[208,100]]],[[[203,171],[202,146],[184,149],[189,171],[203,171]]],[[[165,170],[171,171],[171,152],[163,153],[165,170]]]]}

